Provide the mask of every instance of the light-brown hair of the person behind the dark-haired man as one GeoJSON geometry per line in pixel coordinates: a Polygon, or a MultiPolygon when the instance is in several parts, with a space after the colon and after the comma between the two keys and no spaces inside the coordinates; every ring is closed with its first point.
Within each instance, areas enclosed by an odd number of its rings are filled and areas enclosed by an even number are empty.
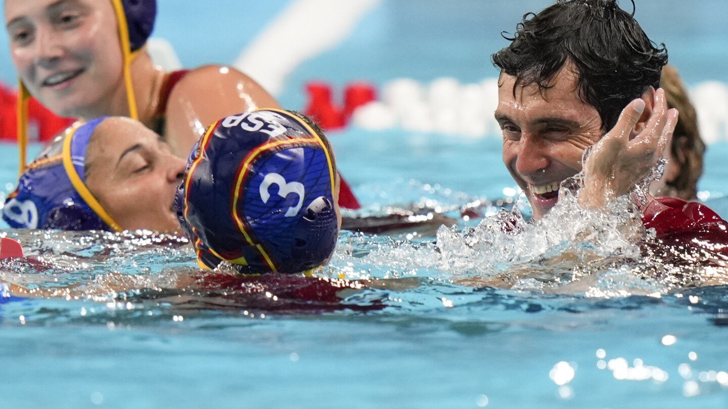
{"type": "Polygon", "coordinates": [[[665,65],[662,68],[660,87],[665,90],[668,106],[677,108],[680,113],[670,146],[673,160],[680,170],[675,180],[668,180],[666,184],[675,189],[676,196],[692,200],[697,196],[697,180],[703,175],[705,154],[705,143],[700,138],[697,127],[697,114],[678,71],[673,66],[665,65]]]}

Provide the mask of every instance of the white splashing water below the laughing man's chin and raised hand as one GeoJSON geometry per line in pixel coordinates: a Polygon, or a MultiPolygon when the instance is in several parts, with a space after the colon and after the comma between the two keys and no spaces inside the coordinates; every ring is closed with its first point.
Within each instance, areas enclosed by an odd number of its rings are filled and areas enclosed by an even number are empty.
{"type": "Polygon", "coordinates": [[[442,226],[435,242],[348,235],[331,269],[357,279],[427,277],[597,298],[659,297],[680,287],[728,283],[726,263],[710,250],[663,245],[644,228],[646,186],[663,167],[606,210],[578,204],[577,176],[562,183],[558,204],[538,221],[524,220],[516,205],[474,228],[442,226]]]}

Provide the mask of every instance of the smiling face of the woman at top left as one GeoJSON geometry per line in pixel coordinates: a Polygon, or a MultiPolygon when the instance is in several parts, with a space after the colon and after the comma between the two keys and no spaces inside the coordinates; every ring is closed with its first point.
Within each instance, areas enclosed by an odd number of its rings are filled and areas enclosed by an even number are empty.
{"type": "Polygon", "coordinates": [[[89,118],[124,91],[111,1],[5,0],[5,24],[20,79],[55,114],[89,118]]]}

